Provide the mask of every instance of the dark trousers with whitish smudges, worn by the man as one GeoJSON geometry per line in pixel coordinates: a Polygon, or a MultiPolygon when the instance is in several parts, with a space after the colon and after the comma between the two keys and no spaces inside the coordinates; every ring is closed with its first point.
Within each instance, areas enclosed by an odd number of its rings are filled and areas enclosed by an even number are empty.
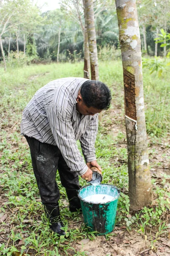
{"type": "Polygon", "coordinates": [[[42,204],[56,206],[60,198],[56,182],[57,169],[65,189],[79,189],[77,172],[70,170],[57,146],[25,137],[30,147],[32,166],[42,204]]]}

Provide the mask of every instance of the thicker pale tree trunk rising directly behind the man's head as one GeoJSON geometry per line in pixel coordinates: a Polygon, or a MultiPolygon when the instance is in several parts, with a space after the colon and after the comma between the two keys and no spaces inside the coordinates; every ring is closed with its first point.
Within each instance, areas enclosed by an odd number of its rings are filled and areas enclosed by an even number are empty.
{"type": "Polygon", "coordinates": [[[91,80],[99,80],[93,0],[85,0],[85,9],[87,17],[88,45],[90,52],[91,80]]]}

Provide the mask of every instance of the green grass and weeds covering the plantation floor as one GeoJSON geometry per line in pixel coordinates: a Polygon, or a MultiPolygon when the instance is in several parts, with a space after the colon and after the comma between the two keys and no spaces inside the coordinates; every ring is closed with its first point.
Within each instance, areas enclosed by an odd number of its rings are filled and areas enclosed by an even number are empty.
{"type": "MultiPolygon", "coordinates": [[[[71,213],[66,203],[65,189],[61,186],[57,175],[57,183],[61,192],[59,201],[61,215],[65,216],[65,231],[67,236],[58,237],[51,233],[45,218],[35,177],[32,172],[31,158],[28,145],[20,135],[21,113],[34,93],[49,81],[60,77],[82,76],[83,63],[76,64],[48,64],[30,65],[17,69],[9,69],[6,73],[0,69],[0,151],[1,171],[0,190],[2,223],[0,232],[0,256],[11,256],[12,253],[24,255],[68,255],[70,250],[76,256],[87,255],[82,249],[76,251],[72,244],[83,238],[95,239],[95,233],[89,232],[81,224],[81,215],[71,213]],[[4,215],[8,214],[6,218],[4,215]],[[76,227],[75,227],[76,223],[76,227]],[[7,242],[5,242],[7,241],[7,242]]],[[[103,182],[118,186],[121,189],[117,211],[117,225],[125,225],[127,230],[135,229],[143,236],[148,236],[155,230],[150,239],[151,246],[156,243],[166,231],[165,214],[170,210],[170,192],[167,189],[169,176],[161,173],[159,184],[157,177],[152,178],[154,205],[144,207],[140,212],[129,212],[127,150],[125,147],[125,133],[119,131],[113,137],[111,130],[113,123],[118,127],[124,124],[124,100],[121,61],[102,62],[99,64],[100,80],[108,84],[113,96],[111,111],[104,115],[104,125],[99,127],[96,140],[96,157],[103,170],[103,182]],[[111,119],[111,112],[119,108],[117,119],[111,119]],[[123,193],[124,192],[124,193],[123,193]]],[[[146,124],[150,143],[156,144],[166,140],[170,132],[167,121],[170,120],[170,74],[164,73],[163,78],[150,75],[144,70],[144,98],[146,105],[146,124]]],[[[168,145],[167,145],[168,147],[168,145]]],[[[150,148],[150,156],[154,156],[150,148]]],[[[166,155],[166,153],[165,153],[166,155]]],[[[168,155],[166,156],[168,160],[168,155]]],[[[151,167],[160,167],[159,163],[151,163],[151,167]]],[[[80,179],[81,185],[85,181],[80,179]]],[[[109,236],[107,236],[109,239],[109,236]]]]}

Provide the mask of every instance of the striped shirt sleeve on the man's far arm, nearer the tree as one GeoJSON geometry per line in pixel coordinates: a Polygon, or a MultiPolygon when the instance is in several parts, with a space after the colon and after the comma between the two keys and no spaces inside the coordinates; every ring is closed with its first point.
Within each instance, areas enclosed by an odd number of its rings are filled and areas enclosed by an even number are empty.
{"type": "Polygon", "coordinates": [[[86,163],[96,160],[95,141],[98,131],[98,114],[94,115],[94,119],[90,121],[85,134],[80,138],[82,153],[86,163]]]}

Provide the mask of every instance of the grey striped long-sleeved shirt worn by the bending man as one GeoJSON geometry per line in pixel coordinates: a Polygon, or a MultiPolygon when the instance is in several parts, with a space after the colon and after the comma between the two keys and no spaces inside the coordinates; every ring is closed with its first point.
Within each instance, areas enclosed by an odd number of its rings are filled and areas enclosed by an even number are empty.
{"type": "Polygon", "coordinates": [[[21,134],[42,143],[57,145],[67,165],[79,175],[88,167],[77,147],[80,141],[86,163],[96,160],[95,140],[98,114],[80,115],[76,99],[88,79],[62,78],[40,88],[23,111],[21,134]]]}

